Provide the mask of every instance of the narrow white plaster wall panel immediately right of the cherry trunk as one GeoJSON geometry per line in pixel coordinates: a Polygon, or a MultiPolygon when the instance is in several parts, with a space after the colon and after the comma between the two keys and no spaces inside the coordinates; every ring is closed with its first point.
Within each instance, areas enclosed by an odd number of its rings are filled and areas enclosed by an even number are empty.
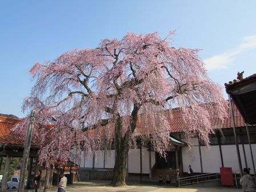
{"type": "Polygon", "coordinates": [[[128,155],[129,173],[141,173],[139,149],[131,149],[128,155]]]}

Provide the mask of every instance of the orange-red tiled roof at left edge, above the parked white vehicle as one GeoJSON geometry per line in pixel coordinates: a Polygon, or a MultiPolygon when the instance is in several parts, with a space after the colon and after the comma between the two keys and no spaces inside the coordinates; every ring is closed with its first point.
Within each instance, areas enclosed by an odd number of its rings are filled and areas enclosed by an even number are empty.
{"type": "MultiPolygon", "coordinates": [[[[25,139],[22,135],[18,135],[14,133],[11,129],[15,126],[15,124],[21,122],[21,119],[13,119],[8,117],[0,116],[0,144],[1,145],[17,145],[24,146],[25,139]]],[[[36,142],[31,142],[31,146],[37,146],[36,142]]]]}

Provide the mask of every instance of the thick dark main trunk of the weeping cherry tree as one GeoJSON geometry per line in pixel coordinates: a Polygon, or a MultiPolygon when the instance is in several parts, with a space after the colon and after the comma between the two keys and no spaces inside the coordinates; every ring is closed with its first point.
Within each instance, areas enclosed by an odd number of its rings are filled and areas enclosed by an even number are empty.
{"type": "Polygon", "coordinates": [[[129,152],[128,135],[122,137],[122,120],[118,115],[117,123],[115,125],[115,166],[111,184],[113,186],[126,185],[126,164],[129,152]]]}

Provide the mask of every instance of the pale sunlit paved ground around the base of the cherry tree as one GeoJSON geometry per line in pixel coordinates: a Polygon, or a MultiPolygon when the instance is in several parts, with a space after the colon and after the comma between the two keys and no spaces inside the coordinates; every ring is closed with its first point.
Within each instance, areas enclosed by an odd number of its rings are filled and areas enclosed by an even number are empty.
{"type": "MultiPolygon", "coordinates": [[[[67,192],[90,191],[90,192],[231,192],[242,191],[242,189],[235,189],[234,187],[174,187],[174,186],[154,186],[154,185],[127,185],[123,187],[111,187],[104,181],[90,181],[90,182],[77,182],[74,185],[67,187],[67,192]]],[[[31,190],[30,190],[31,191],[31,190]]],[[[39,190],[42,191],[42,190],[39,190]]],[[[57,192],[57,187],[47,190],[47,192],[57,192]]]]}

